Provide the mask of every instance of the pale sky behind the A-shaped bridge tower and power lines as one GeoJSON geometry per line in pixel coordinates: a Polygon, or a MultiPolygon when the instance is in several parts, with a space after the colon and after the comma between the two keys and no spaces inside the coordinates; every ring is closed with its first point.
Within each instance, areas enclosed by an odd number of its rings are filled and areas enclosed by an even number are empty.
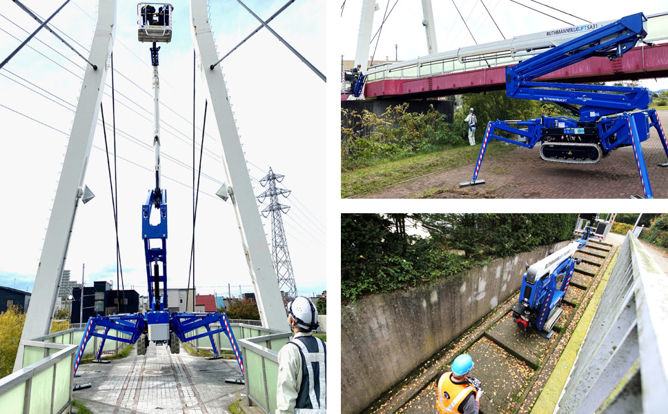
{"type": "MultiPolygon", "coordinates": [[[[25,0],[24,3],[44,19],[61,4],[46,0],[25,0]]],[[[193,203],[190,188],[193,176],[186,167],[193,164],[193,127],[189,124],[193,117],[193,42],[188,3],[174,3],[173,39],[170,43],[161,43],[159,55],[162,186],[168,191],[168,286],[172,288],[185,287],[188,282],[193,203]],[[186,166],[178,165],[173,159],[186,166]]],[[[211,20],[222,57],[259,26],[259,22],[235,0],[212,3],[215,6],[210,10],[211,20]]],[[[285,2],[248,0],[245,3],[259,17],[267,19],[285,2]]],[[[97,18],[96,5],[97,1],[72,0],[52,20],[52,26],[90,48],[94,18],[97,18]]],[[[297,1],[270,23],[276,32],[323,72],[326,59],[323,47],[326,35],[324,8],[322,1],[297,1]]],[[[146,294],[140,217],[141,205],[148,190],[154,186],[151,140],[153,92],[150,45],[137,40],[136,10],[137,1],[118,1],[114,47],[117,148],[119,157],[131,161],[117,161],[119,239],[125,286],[146,294]],[[127,139],[128,135],[139,142],[127,139]]],[[[20,41],[28,37],[28,33],[21,28],[32,32],[39,25],[11,2],[5,4],[0,14],[0,57],[4,59],[20,41]]],[[[46,57],[26,46],[0,70],[0,104],[68,133],[79,97],[84,62],[46,30],[42,30],[28,45],[46,57]],[[61,52],[64,57],[40,41],[61,52]],[[62,106],[10,79],[23,84],[28,84],[27,81],[35,83],[55,97],[41,92],[43,95],[62,106]]],[[[88,57],[82,46],[74,46],[88,57]]],[[[282,203],[292,206],[284,215],[284,226],[297,290],[302,294],[320,293],[326,289],[322,190],[325,83],[266,30],[255,34],[222,64],[251,177],[262,179],[271,166],[275,172],[286,176],[282,186],[293,191],[288,199],[282,199],[282,203]]],[[[205,86],[199,71],[196,79],[195,124],[199,129],[202,128],[205,86]]],[[[105,120],[111,123],[110,72],[105,92],[104,115],[105,120]]],[[[206,121],[206,134],[209,136],[204,141],[197,213],[196,282],[198,293],[213,293],[215,290],[226,295],[230,284],[232,294],[239,295],[239,285],[244,292],[253,289],[233,207],[230,202],[215,197],[220,183],[226,179],[220,161],[222,145],[214,119],[209,108],[206,121]]],[[[31,290],[68,134],[1,106],[0,123],[3,126],[0,151],[0,194],[3,199],[0,203],[0,231],[3,234],[0,237],[0,285],[31,290]]],[[[108,128],[107,136],[111,151],[111,128],[108,128]]],[[[197,142],[200,139],[202,132],[198,130],[197,142]]],[[[93,145],[104,149],[101,126],[96,129],[93,145]]],[[[116,285],[115,230],[104,150],[92,148],[85,184],[97,197],[86,205],[79,204],[66,269],[71,270],[72,279],[80,281],[82,264],[85,263],[87,283],[113,280],[116,285]]],[[[264,190],[257,182],[253,185],[256,195],[264,190]]],[[[263,221],[268,242],[271,242],[271,223],[268,219],[263,221]]]]}

